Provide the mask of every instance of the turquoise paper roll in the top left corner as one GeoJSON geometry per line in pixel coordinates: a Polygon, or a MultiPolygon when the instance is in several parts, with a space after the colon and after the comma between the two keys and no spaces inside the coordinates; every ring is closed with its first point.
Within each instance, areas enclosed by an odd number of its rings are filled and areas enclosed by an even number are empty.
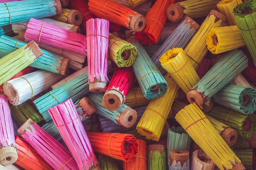
{"type": "Polygon", "coordinates": [[[30,18],[51,17],[61,13],[59,0],[26,0],[0,3],[0,26],[11,25],[30,20],[30,18]]]}

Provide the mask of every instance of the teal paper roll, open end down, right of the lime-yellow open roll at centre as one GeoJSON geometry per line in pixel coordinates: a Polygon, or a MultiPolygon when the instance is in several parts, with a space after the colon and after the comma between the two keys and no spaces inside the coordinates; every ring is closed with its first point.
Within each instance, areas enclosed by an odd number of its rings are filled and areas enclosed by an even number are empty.
{"type": "Polygon", "coordinates": [[[167,91],[167,82],[150,59],[143,46],[136,41],[137,57],[132,68],[145,98],[155,99],[167,91]]]}

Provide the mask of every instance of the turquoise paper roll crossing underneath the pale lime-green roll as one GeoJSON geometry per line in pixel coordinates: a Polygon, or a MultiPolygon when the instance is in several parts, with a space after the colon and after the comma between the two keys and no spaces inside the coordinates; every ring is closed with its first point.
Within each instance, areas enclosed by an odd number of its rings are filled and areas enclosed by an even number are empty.
{"type": "MultiPolygon", "coordinates": [[[[19,41],[15,38],[8,37],[6,35],[3,35],[0,37],[0,58],[6,56],[7,54],[10,54],[11,52],[15,51],[16,49],[22,47],[25,45],[26,42],[19,41]]],[[[50,71],[53,73],[60,74],[60,71],[64,70],[61,74],[66,74],[67,69],[63,67],[67,67],[67,65],[61,65],[64,60],[68,60],[66,58],[61,57],[58,54],[49,52],[47,50],[44,50],[41,48],[41,51],[43,52],[43,55],[38,57],[38,59],[35,60],[32,64],[30,64],[31,67],[39,68],[42,70],[50,71]],[[62,67],[62,68],[61,68],[62,67]]]]}

